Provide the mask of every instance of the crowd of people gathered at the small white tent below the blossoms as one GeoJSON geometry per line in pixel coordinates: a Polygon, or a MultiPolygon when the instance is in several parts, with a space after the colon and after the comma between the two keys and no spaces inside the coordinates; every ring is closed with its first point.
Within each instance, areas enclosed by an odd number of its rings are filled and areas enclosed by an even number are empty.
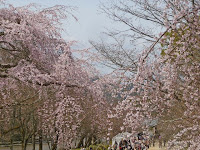
{"type": "Polygon", "coordinates": [[[115,141],[113,150],[148,150],[150,139],[148,136],[139,135],[128,139],[122,139],[119,143],[115,141]]]}

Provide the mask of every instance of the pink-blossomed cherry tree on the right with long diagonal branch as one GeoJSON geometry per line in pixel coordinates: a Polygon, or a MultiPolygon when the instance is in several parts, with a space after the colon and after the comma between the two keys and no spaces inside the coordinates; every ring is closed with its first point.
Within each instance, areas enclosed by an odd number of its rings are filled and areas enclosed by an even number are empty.
{"type": "MultiPolygon", "coordinates": [[[[130,0],[108,6],[103,7],[105,12],[126,24],[133,31],[133,40],[135,37],[149,41],[139,52],[138,59],[133,59],[137,65],[130,63],[130,67],[123,65],[126,57],[120,57],[118,51],[118,55],[112,55],[112,47],[93,43],[104,58],[119,68],[120,84],[116,93],[123,95],[124,100],[117,110],[128,111],[124,126],[137,131],[139,126],[145,125],[145,120],[158,118],[159,125],[168,125],[166,131],[173,133],[168,143],[170,149],[199,149],[200,120],[196,111],[200,98],[199,1],[130,0]],[[155,34],[142,27],[136,28],[133,17],[154,22],[162,26],[163,31],[155,34]],[[132,70],[133,74],[127,73],[132,70]]],[[[126,54],[126,49],[120,45],[117,50],[126,54]]]]}

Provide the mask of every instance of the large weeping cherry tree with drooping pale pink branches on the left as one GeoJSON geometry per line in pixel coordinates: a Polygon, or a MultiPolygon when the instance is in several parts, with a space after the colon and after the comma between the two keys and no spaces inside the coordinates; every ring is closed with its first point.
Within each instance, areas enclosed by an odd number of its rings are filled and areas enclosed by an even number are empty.
{"type": "Polygon", "coordinates": [[[103,96],[101,86],[91,80],[92,67],[72,55],[74,41],[61,37],[62,20],[73,16],[71,9],[61,5],[41,9],[35,4],[14,7],[1,1],[1,118],[14,106],[23,109],[20,115],[26,116],[24,119],[33,110],[38,119],[37,135],[50,137],[52,150],[58,145],[70,148],[82,119],[83,95],[88,93],[96,102],[103,96]],[[30,87],[26,90],[32,89],[35,97],[19,90],[25,87],[30,87]]]}

